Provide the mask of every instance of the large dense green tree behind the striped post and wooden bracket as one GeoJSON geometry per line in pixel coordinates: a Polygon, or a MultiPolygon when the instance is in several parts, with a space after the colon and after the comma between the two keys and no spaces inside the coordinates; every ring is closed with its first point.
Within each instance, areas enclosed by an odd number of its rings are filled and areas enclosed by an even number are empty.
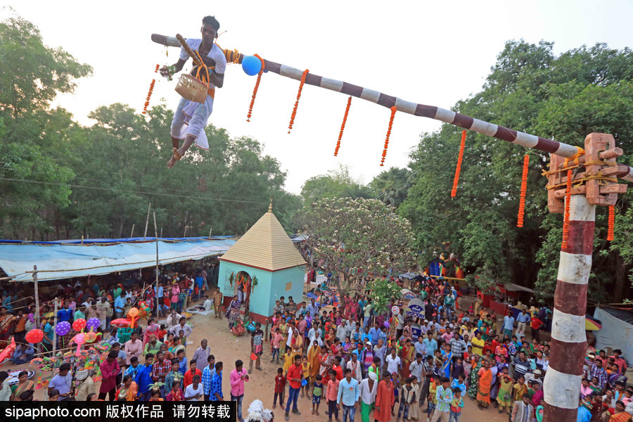
{"type": "MultiPolygon", "coordinates": [[[[632,151],[632,51],[596,44],[556,56],[552,47],[546,41],[508,41],[482,90],[456,103],[453,110],[578,146],[584,146],[587,134],[606,132],[615,136],[618,146],[632,151]]],[[[423,261],[430,260],[437,245],[449,241],[468,272],[551,294],[562,215],[549,215],[546,210],[546,181],[540,173],[546,170],[549,155],[469,132],[457,196],[451,198],[459,132],[444,125],[422,134],[411,153],[415,184],[398,212],[411,221],[418,249],[425,251],[423,261]],[[525,153],[530,154],[530,172],[525,223],[519,229],[516,217],[525,153]]],[[[631,164],[627,158],[618,161],[631,164]]],[[[627,224],[623,216],[629,203],[629,193],[620,196],[620,224],[627,224]]],[[[619,238],[618,229],[616,241],[606,242],[606,211],[599,207],[596,215],[589,294],[592,300],[613,302],[627,296],[631,260],[620,251],[633,250],[633,243],[619,238]]]]}

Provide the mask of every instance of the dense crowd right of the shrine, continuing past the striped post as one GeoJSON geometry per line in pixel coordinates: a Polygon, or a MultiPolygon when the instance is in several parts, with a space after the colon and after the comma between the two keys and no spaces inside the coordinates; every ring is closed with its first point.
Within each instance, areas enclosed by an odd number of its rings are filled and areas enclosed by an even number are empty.
{"type": "MultiPolygon", "coordinates": [[[[497,321],[480,302],[460,309],[458,286],[442,278],[420,288],[423,318],[374,314],[363,295],[345,295],[328,311],[314,299],[298,305],[280,298],[269,338],[271,362],[279,363],[273,407],[279,399],[288,420],[307,397],[315,415],[324,400],[328,421],[339,421],[342,409],[353,422],[359,409],[363,422],[459,422],[472,400],[512,422],[537,421],[550,352],[539,331],[551,311],[525,308],[515,318],[509,307],[497,321]]],[[[402,302],[391,305],[404,309],[402,302]]],[[[626,370],[621,350],[587,354],[578,421],[630,420],[626,370]]]]}

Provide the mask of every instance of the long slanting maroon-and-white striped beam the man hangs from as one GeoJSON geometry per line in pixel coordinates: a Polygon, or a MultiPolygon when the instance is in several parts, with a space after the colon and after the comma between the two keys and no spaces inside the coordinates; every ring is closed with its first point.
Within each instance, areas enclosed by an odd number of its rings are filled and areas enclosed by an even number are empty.
{"type": "MultiPolygon", "coordinates": [[[[165,46],[179,47],[180,42],[176,37],[166,37],[165,35],[152,34],[152,41],[157,44],[165,46]]],[[[233,51],[223,50],[225,56],[229,56],[233,51]]],[[[242,63],[242,59],[245,55],[238,53],[236,61],[242,63]]],[[[265,60],[265,69],[269,72],[276,73],[283,77],[289,77],[300,81],[303,75],[303,70],[292,68],[290,66],[281,65],[279,63],[265,60]]],[[[561,155],[565,158],[570,158],[572,155],[578,152],[577,148],[567,143],[554,141],[553,139],[546,139],[540,136],[526,134],[525,132],[518,132],[513,129],[509,129],[499,124],[484,122],[483,120],[468,117],[461,113],[456,113],[452,110],[446,110],[445,108],[426,106],[425,104],[411,103],[411,101],[405,101],[402,98],[396,96],[390,96],[383,94],[373,89],[367,89],[359,87],[358,85],[348,84],[347,82],[338,81],[336,79],[330,79],[314,73],[308,73],[305,78],[305,83],[313,85],[314,87],[321,87],[330,89],[331,91],[340,92],[341,94],[355,96],[362,98],[366,101],[371,101],[379,106],[386,108],[392,108],[395,106],[398,111],[402,113],[409,113],[415,116],[428,117],[433,120],[440,120],[441,122],[454,124],[455,126],[463,127],[463,129],[472,130],[487,136],[492,136],[497,139],[502,139],[510,143],[516,143],[526,148],[534,148],[545,153],[551,153],[561,155]]],[[[621,165],[622,172],[615,174],[616,177],[633,181],[633,168],[621,165]]]]}

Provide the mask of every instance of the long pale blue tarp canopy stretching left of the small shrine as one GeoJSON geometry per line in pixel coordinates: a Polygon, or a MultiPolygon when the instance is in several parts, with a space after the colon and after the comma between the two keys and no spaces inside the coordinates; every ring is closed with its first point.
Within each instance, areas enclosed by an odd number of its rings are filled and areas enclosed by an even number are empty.
{"type": "MultiPolygon", "coordinates": [[[[158,241],[160,265],[222,255],[236,238],[158,241]]],[[[37,265],[39,281],[98,276],[156,265],[156,242],[115,244],[0,244],[0,268],[13,281],[32,281],[37,265]]]]}

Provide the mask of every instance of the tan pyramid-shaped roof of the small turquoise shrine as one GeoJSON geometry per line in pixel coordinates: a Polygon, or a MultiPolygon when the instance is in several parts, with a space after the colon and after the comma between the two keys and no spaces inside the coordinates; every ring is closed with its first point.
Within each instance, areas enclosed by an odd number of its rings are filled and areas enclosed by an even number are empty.
{"type": "Polygon", "coordinates": [[[268,271],[305,264],[301,253],[273,214],[272,205],[220,260],[268,271]]]}

